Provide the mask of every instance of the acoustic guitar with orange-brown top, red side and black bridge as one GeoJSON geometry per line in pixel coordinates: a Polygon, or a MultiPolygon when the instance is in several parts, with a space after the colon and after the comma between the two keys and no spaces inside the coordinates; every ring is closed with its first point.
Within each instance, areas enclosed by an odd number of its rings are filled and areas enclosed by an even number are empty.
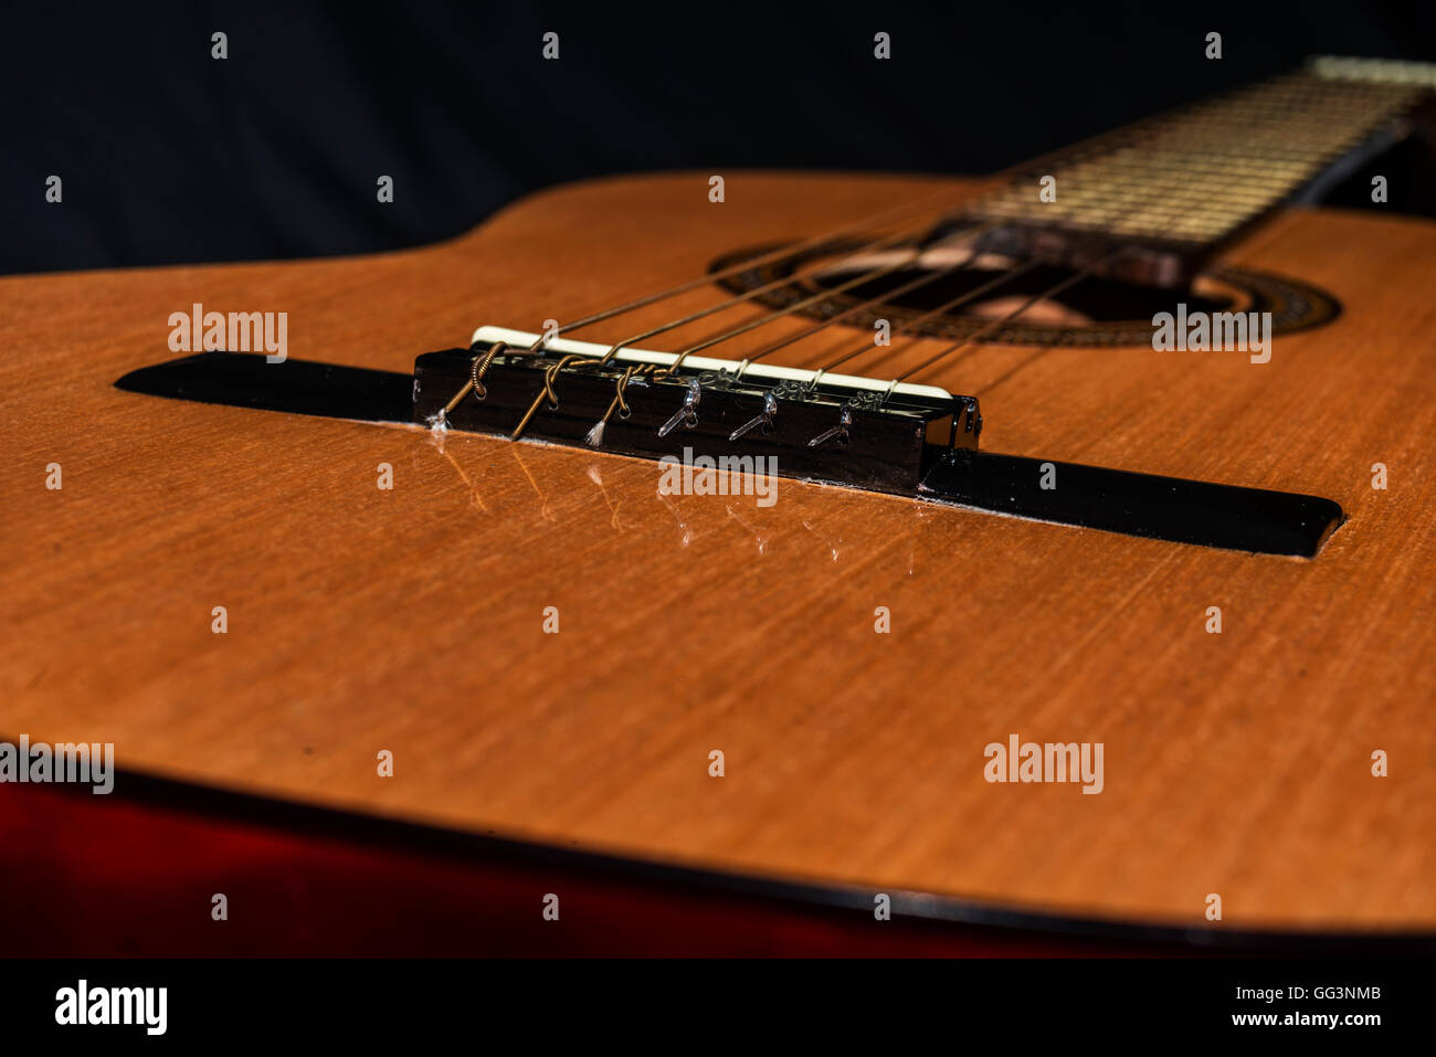
{"type": "Polygon", "coordinates": [[[1320,201],[1433,86],[0,280],[0,738],[116,770],[3,790],[20,935],[1429,946],[1436,224],[1320,201]]]}

